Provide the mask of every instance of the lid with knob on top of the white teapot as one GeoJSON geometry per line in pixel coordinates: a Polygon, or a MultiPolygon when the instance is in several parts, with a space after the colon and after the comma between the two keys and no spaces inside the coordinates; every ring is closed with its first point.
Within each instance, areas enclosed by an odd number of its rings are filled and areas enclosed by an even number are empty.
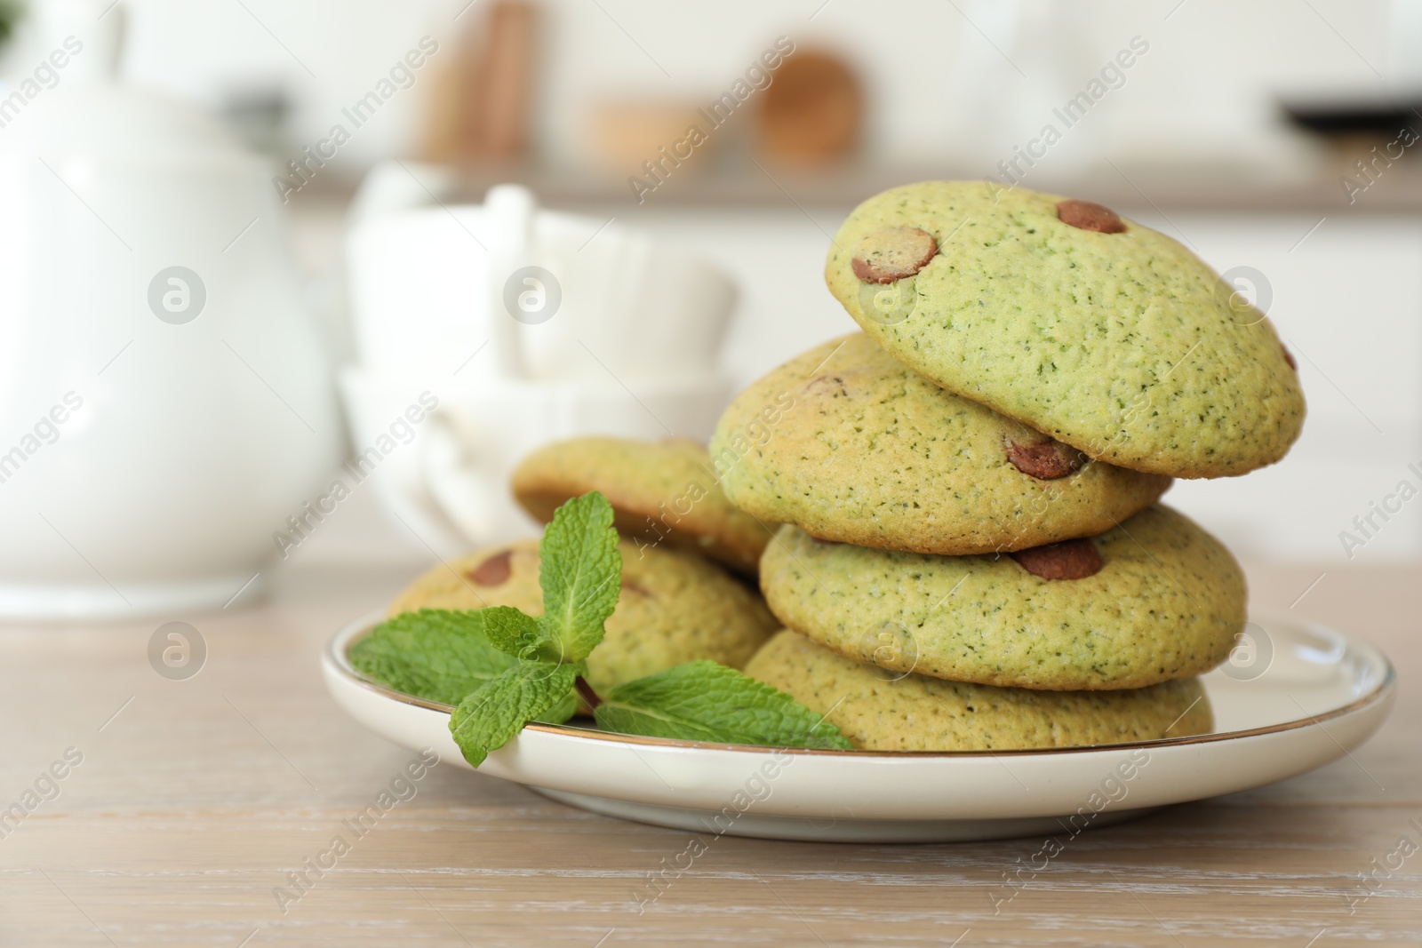
{"type": "Polygon", "coordinates": [[[43,58],[0,98],[0,153],[257,161],[201,108],[117,81],[124,4],[40,0],[33,16],[43,58]]]}

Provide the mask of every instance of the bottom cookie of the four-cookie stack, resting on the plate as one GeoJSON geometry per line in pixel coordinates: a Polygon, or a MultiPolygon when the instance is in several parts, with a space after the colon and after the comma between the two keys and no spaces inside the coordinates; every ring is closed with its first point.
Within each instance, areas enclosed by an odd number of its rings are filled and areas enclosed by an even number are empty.
{"type": "Polygon", "coordinates": [[[1197,678],[1128,691],[1030,691],[886,672],[782,631],[745,667],[862,750],[1028,750],[1186,738],[1214,728],[1197,678]]]}

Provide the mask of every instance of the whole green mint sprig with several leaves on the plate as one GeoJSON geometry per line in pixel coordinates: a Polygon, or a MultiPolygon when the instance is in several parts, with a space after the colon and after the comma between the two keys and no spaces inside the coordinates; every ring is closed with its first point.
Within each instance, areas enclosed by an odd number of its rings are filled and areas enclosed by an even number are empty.
{"type": "Polygon", "coordinates": [[[789,695],[712,661],[694,661],[599,696],[583,678],[621,591],[613,509],[600,493],[573,497],[539,542],[543,614],[508,605],[419,610],[381,623],[351,650],[365,675],[407,694],[458,705],[449,732],[479,766],[530,721],[559,723],[576,694],[604,731],[782,748],[853,745],[789,695]]]}

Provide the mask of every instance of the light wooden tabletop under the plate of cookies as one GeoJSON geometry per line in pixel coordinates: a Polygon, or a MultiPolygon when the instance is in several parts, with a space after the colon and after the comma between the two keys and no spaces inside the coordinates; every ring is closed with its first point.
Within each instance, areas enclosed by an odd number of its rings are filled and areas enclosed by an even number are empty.
{"type": "MultiPolygon", "coordinates": [[[[1288,611],[1318,569],[1256,567],[1288,611]]],[[[381,605],[392,570],[286,574],[263,607],[186,617],[208,644],[161,678],[158,623],[0,627],[0,945],[1391,945],[1422,941],[1422,583],[1330,570],[1291,614],[1382,647],[1396,711],[1352,759],[1075,840],[994,914],[1042,840],[845,846],[715,840],[637,914],[633,891],[688,833],[621,823],[435,766],[283,914],[274,890],[411,753],[327,696],[326,640],[381,605]],[[65,750],[82,762],[64,765],[65,750]],[[63,780],[41,780],[51,763],[63,780]],[[1413,822],[1415,820],[1415,822],[1413,822]],[[3,826],[3,824],[0,824],[3,826]],[[1359,874],[1375,891],[1349,911],[1359,874]],[[1391,877],[1385,876],[1391,871],[1391,877]]]]}

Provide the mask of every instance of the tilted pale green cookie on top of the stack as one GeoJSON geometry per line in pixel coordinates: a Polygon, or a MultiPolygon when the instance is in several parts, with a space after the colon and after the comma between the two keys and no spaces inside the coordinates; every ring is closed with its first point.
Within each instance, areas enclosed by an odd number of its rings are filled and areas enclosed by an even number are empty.
{"type": "Polygon", "coordinates": [[[845,220],[825,279],[896,358],[1092,458],[1176,478],[1283,458],[1304,395],[1273,324],[1231,308],[1233,287],[1170,237],[1074,227],[1062,200],[984,182],[894,188],[845,220]],[[852,256],[889,227],[927,232],[939,253],[912,313],[884,324],[862,311],[852,256]]]}

